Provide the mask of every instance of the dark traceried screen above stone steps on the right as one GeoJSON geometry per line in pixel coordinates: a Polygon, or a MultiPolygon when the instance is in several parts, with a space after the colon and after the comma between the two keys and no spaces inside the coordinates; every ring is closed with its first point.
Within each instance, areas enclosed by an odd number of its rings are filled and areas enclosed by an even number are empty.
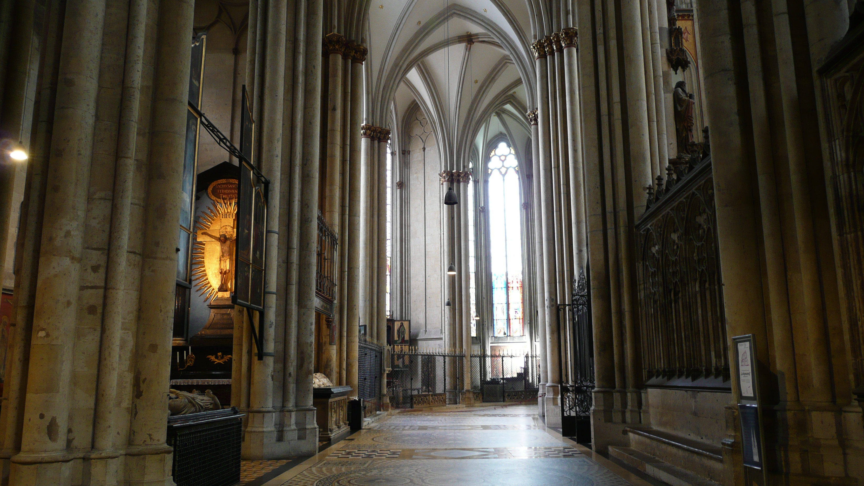
{"type": "Polygon", "coordinates": [[[727,387],[729,361],[711,157],[682,157],[649,190],[637,222],[637,281],[646,385],[727,387]]]}

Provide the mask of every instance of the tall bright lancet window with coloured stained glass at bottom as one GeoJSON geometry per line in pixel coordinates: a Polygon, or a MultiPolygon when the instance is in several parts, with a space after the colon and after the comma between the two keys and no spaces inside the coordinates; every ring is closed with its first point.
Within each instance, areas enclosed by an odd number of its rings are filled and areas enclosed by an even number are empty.
{"type": "Polygon", "coordinates": [[[492,267],[492,332],[523,336],[522,221],[519,164],[504,142],[489,154],[489,253],[492,267]]]}

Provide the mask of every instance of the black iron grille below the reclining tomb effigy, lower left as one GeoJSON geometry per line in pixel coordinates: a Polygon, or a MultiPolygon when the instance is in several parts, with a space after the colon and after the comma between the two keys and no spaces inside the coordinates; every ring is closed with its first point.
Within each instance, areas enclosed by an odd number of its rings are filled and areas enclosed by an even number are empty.
{"type": "Polygon", "coordinates": [[[233,486],[240,482],[243,413],[226,410],[168,417],[177,486],[233,486]]]}

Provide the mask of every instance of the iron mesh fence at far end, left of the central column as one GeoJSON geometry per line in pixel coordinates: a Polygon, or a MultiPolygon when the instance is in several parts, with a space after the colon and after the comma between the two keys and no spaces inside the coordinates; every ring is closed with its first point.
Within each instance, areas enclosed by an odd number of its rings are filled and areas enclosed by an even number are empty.
{"type": "Polygon", "coordinates": [[[387,390],[395,408],[460,403],[465,353],[394,345],[387,390]]]}

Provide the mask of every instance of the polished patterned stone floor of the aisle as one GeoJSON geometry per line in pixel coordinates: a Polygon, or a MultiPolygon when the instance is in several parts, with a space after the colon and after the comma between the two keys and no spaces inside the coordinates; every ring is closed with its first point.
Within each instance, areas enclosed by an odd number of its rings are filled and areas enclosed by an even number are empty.
{"type": "Polygon", "coordinates": [[[643,485],[547,432],[537,406],[400,412],[286,471],[266,486],[643,485]],[[601,464],[602,463],[602,464],[601,464]]]}

